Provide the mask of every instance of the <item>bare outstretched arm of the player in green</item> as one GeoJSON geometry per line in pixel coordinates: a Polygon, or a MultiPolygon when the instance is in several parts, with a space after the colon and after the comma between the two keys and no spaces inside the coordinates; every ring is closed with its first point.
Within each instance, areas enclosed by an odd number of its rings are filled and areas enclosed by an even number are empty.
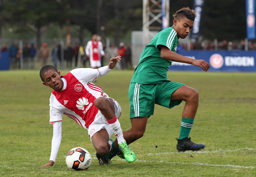
{"type": "Polygon", "coordinates": [[[193,66],[199,66],[205,72],[207,72],[208,69],[210,68],[210,65],[209,65],[209,63],[207,63],[207,61],[182,56],[180,54],[177,54],[177,53],[171,51],[166,46],[161,47],[161,58],[166,59],[166,60],[170,60],[170,61],[180,62],[180,63],[188,63],[188,64],[191,64],[193,66]]]}

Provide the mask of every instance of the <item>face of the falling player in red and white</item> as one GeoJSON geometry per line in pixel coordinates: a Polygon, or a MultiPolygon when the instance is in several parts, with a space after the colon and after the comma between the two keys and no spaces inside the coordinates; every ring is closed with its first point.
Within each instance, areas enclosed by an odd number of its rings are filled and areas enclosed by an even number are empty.
{"type": "Polygon", "coordinates": [[[43,85],[49,86],[56,91],[61,91],[63,88],[63,81],[60,78],[60,72],[49,70],[43,75],[43,85]]]}

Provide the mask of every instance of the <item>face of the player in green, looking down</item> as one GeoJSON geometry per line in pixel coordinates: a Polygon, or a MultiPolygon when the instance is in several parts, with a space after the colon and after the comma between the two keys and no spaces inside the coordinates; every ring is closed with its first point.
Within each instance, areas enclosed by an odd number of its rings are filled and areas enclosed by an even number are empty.
{"type": "Polygon", "coordinates": [[[174,18],[173,19],[173,29],[177,32],[177,37],[179,38],[186,38],[188,33],[193,28],[194,21],[189,20],[187,18],[181,18],[180,20],[174,18]]]}

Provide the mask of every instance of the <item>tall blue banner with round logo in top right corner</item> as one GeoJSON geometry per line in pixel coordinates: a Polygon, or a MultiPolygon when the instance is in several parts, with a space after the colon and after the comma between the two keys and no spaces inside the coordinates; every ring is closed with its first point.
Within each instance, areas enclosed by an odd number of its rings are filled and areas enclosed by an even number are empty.
{"type": "Polygon", "coordinates": [[[247,38],[255,39],[255,0],[246,0],[247,38]]]}

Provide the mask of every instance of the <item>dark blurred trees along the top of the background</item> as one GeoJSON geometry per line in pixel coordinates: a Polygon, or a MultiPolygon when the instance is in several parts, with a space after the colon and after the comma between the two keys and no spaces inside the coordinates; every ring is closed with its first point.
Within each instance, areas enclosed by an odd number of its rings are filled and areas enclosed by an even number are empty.
{"type": "MultiPolygon", "coordinates": [[[[87,30],[111,36],[118,44],[131,31],[142,30],[142,3],[142,0],[0,0],[0,25],[16,26],[15,33],[19,34],[32,32],[37,46],[53,23],[61,27],[78,26],[76,37],[81,43],[87,30]]],[[[193,8],[193,1],[170,0],[170,25],[175,11],[186,6],[193,8]]],[[[245,25],[245,1],[205,0],[202,38],[240,40],[246,37],[245,25]]]]}

